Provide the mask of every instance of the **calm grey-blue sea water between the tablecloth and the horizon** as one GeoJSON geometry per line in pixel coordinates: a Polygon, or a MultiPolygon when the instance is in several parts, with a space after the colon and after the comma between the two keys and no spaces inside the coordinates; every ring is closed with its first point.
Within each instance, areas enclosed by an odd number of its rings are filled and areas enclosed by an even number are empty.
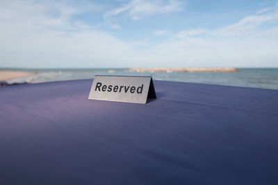
{"type": "MultiPolygon", "coordinates": [[[[10,70],[10,69],[0,69],[10,70]]],[[[38,72],[38,75],[13,79],[8,83],[42,83],[73,79],[92,79],[95,74],[152,76],[155,80],[210,83],[226,86],[268,88],[278,90],[278,68],[238,68],[239,72],[129,72],[128,69],[14,69],[38,72]]]]}

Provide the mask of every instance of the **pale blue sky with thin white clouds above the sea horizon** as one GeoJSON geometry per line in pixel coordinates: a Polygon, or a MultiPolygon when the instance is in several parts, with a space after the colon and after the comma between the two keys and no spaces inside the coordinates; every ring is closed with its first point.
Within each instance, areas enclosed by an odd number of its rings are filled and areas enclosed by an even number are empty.
{"type": "Polygon", "coordinates": [[[278,67],[278,1],[0,0],[0,67],[278,67]]]}

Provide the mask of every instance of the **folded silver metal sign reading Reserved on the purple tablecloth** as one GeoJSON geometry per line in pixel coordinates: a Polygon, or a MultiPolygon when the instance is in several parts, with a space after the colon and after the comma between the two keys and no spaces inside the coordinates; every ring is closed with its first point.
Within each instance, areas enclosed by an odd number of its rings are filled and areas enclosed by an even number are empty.
{"type": "Polygon", "coordinates": [[[95,75],[88,99],[145,104],[156,98],[152,77],[95,75]]]}

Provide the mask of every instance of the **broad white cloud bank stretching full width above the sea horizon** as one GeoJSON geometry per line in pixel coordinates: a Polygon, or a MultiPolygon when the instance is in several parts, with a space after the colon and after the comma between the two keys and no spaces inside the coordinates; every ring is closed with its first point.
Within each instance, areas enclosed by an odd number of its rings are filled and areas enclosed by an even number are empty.
{"type": "MultiPolygon", "coordinates": [[[[159,6],[169,4],[167,1],[159,6]]],[[[157,30],[154,34],[165,34],[167,40],[155,38],[156,44],[152,38],[126,42],[72,19],[87,11],[97,11],[94,7],[0,2],[0,67],[278,66],[277,7],[220,29],[186,29],[175,35],[170,34],[172,31],[157,30]]],[[[129,14],[131,10],[130,7],[118,10],[116,15],[129,14]]],[[[145,15],[136,12],[132,16],[145,15]]],[[[120,25],[111,22],[104,24],[120,29],[120,25]]]]}

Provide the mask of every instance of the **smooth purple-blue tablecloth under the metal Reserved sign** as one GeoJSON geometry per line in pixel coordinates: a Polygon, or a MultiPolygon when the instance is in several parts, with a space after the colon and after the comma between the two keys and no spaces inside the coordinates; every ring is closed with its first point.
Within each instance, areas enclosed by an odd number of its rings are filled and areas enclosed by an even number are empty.
{"type": "Polygon", "coordinates": [[[147,104],[92,80],[0,88],[0,184],[278,184],[278,90],[154,81],[147,104]]]}

